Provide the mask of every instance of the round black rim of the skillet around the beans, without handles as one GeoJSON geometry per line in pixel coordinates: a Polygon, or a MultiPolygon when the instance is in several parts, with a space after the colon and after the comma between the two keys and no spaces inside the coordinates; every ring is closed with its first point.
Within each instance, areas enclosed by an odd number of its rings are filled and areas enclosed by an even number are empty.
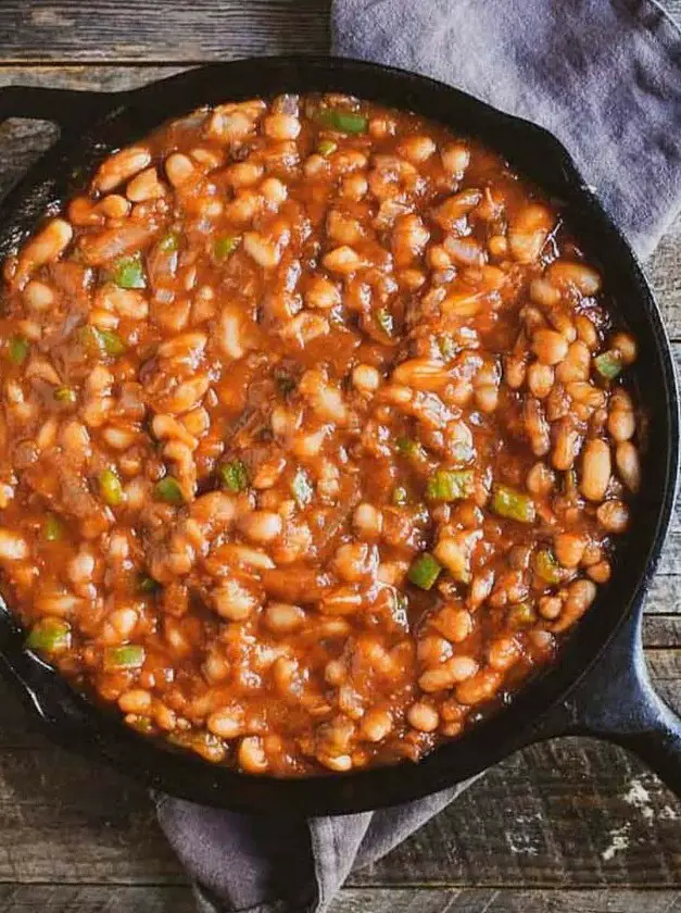
{"type": "MultiPolygon", "coordinates": [[[[451,105],[452,111],[456,110],[456,116],[466,111],[468,114],[474,113],[472,121],[477,117],[478,126],[484,126],[484,130],[481,132],[469,128],[464,133],[480,135],[493,126],[500,136],[504,133],[508,137],[515,136],[516,140],[520,137],[528,146],[537,143],[541,147],[541,155],[546,157],[551,167],[555,168],[555,180],[550,182],[555,185],[551,188],[552,192],[558,189],[567,197],[570,208],[579,204],[584,217],[592,221],[592,229],[597,226],[596,234],[611,250],[608,260],[615,263],[617,257],[621,258],[618,270],[613,267],[613,272],[621,271],[635,289],[635,297],[638,303],[643,307],[645,326],[650,333],[647,343],[654,350],[658,362],[659,389],[664,393],[664,408],[658,418],[663,420],[665,446],[659,447],[659,441],[656,440],[658,450],[664,451],[661,460],[659,454],[656,458],[658,468],[663,471],[658,484],[654,486],[654,493],[659,496],[659,500],[655,522],[651,523],[651,518],[647,518],[650,529],[643,545],[645,560],[640,559],[641,572],[619,608],[610,605],[607,610],[607,618],[606,609],[603,606],[608,595],[613,602],[613,586],[600,593],[593,609],[579,624],[569,641],[563,645],[558,662],[541,676],[530,680],[515,696],[510,708],[505,708],[485,722],[477,724],[461,738],[444,743],[418,764],[406,762],[394,767],[379,767],[345,775],[328,774],[294,780],[253,777],[235,773],[227,767],[211,765],[192,755],[176,754],[166,748],[160,748],[131,733],[117,717],[114,720],[111,714],[103,713],[94,704],[85,701],[43,661],[26,653],[21,646],[17,626],[7,613],[0,615],[0,659],[3,667],[18,684],[24,701],[42,720],[48,734],[54,740],[86,755],[104,758],[118,770],[156,789],[205,804],[235,810],[275,810],[298,814],[349,813],[404,802],[461,781],[541,736],[541,721],[548,710],[558,704],[605,654],[625,621],[631,614],[640,612],[669,526],[677,486],[679,412],[670,343],[652,291],[634,254],[555,137],[534,124],[499,112],[471,96],[428,77],[379,64],[326,55],[251,58],[213,63],[185,71],[139,89],[112,95],[83,92],[84,102],[86,99],[90,100],[88,110],[94,115],[93,124],[87,128],[86,134],[79,136],[76,136],[75,130],[70,132],[66,128],[58,143],[31,166],[24,179],[0,203],[0,255],[7,252],[12,243],[18,241],[23,234],[13,230],[16,223],[12,221],[12,216],[24,226],[31,223],[30,227],[34,227],[34,215],[45,208],[46,193],[50,198],[61,198],[61,193],[56,191],[67,186],[66,172],[77,162],[77,158],[72,157],[70,151],[76,141],[83,142],[88,136],[97,137],[98,133],[106,134],[112,125],[115,127],[121,120],[125,121],[130,115],[133,123],[137,123],[135,117],[148,116],[152,107],[156,125],[178,116],[180,110],[176,110],[175,98],[169,105],[171,110],[165,110],[172,97],[171,87],[177,87],[184,92],[181,111],[188,113],[201,103],[206,103],[206,95],[215,93],[214,85],[209,91],[203,84],[214,79],[217,74],[231,76],[235,82],[240,78],[248,82],[251,77],[262,80],[266,76],[270,83],[270,90],[266,95],[270,96],[285,88],[280,83],[276,83],[277,77],[288,80],[287,87],[291,88],[292,80],[302,78],[305,83],[315,77],[327,84],[321,87],[317,83],[316,90],[328,90],[328,84],[332,83],[340,91],[356,91],[348,88],[349,84],[370,77],[369,91],[365,89],[360,92],[365,98],[384,101],[386,95],[390,95],[393,100],[388,103],[404,108],[409,105],[400,104],[394,100],[398,90],[404,93],[401,97],[405,97],[407,101],[427,97],[432,102],[426,105],[429,109],[434,108],[438,100],[444,109],[451,105]],[[197,91],[201,93],[202,99],[185,103],[185,96],[197,91]],[[155,108],[159,102],[166,103],[161,113],[155,108]],[[58,182],[54,175],[61,175],[61,182],[58,182]],[[603,630],[594,637],[593,631],[597,630],[598,626],[603,630]],[[597,642],[590,643],[591,638],[597,642]],[[588,655],[576,661],[575,654],[580,648],[585,648],[588,655]]],[[[299,90],[312,91],[314,88],[301,86],[299,90]]],[[[54,91],[56,98],[59,90],[54,91]]],[[[219,95],[211,99],[211,103],[215,103],[218,98],[225,101],[255,93],[265,95],[252,90],[243,93],[240,88],[230,91],[223,89],[220,85],[219,95]]],[[[420,104],[416,110],[419,113],[424,112],[420,104]]],[[[429,112],[426,116],[433,117],[433,114],[429,112]]],[[[461,130],[461,126],[455,123],[456,116],[446,110],[444,117],[434,118],[461,130]]],[[[151,128],[150,125],[141,133],[127,135],[125,141],[134,141],[138,135],[142,136],[151,128]]],[[[490,142],[484,137],[483,141],[508,155],[504,148],[506,139],[490,142]]],[[[102,157],[111,149],[99,146],[94,151],[102,157]]],[[[517,166],[518,155],[510,154],[509,158],[517,166]]],[[[527,168],[519,170],[533,179],[527,168]]],[[[546,182],[535,183],[546,187],[546,182]]],[[[656,408],[659,408],[659,404],[656,408]]],[[[655,500],[657,499],[651,501],[651,510],[655,508],[655,500]]],[[[619,568],[614,578],[617,578],[618,574],[619,568]]]]}

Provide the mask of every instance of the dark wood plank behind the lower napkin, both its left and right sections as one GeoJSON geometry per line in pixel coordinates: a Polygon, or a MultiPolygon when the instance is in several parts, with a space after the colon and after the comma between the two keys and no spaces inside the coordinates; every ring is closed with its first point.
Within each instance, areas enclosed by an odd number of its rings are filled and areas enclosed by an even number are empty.
{"type": "MultiPolygon", "coordinates": [[[[673,887],[680,823],[638,761],[559,739],[490,771],[350,884],[673,887]]],[[[0,883],[184,881],[143,790],[46,745],[0,751],[0,883]]]]}

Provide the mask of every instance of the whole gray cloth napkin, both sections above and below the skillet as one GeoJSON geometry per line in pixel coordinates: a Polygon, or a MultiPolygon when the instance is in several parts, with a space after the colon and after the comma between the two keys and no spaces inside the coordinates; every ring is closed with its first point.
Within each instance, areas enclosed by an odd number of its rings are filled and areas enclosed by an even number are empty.
{"type": "MultiPolygon", "coordinates": [[[[641,255],[681,207],[681,33],[651,0],[335,0],[336,53],[434,76],[547,127],[641,255]]],[[[409,805],[305,821],[162,797],[202,913],[321,913],[470,781],[409,805]]]]}

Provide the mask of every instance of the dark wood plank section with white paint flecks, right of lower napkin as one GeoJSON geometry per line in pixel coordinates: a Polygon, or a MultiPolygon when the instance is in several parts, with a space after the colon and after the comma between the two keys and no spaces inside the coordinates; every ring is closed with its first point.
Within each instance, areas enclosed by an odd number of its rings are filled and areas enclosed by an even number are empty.
{"type": "Polygon", "coordinates": [[[676,884],[680,814],[678,801],[626,753],[590,740],[555,740],[490,772],[390,856],[351,880],[676,884]]]}

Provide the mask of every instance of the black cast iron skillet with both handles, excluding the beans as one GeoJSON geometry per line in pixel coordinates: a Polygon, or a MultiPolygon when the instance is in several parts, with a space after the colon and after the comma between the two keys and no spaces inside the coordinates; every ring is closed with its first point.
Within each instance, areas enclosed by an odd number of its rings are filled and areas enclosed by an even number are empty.
{"type": "Polygon", "coordinates": [[[641,268],[619,232],[550,134],[440,83],[398,70],[330,58],[270,58],[192,70],[115,93],[11,87],[0,120],[40,117],[59,142],[0,204],[0,258],[50,204],[83,183],[93,164],[163,121],[202,104],[283,91],[342,91],[417,111],[496,148],[563,201],[577,236],[600,262],[635,334],[635,383],[650,418],[651,447],[631,531],[615,573],[577,626],[558,662],[493,717],[418,764],[304,780],[237,774],[174,753],[129,730],[77,696],[22,649],[7,606],[0,612],[0,666],[61,745],[105,760],[157,789],[209,805],[287,814],[346,813],[405,802],[471,776],[522,746],[557,735],[589,735],[638,753],[681,796],[681,721],[653,691],[641,649],[641,611],[674,501],[678,392],[669,341],[641,268]]]}

